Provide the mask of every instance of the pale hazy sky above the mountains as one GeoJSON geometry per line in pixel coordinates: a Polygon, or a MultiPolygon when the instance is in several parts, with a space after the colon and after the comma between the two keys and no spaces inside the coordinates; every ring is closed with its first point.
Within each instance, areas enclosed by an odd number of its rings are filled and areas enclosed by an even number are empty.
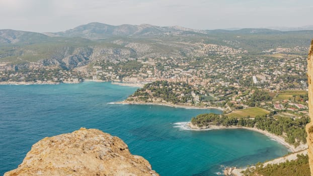
{"type": "Polygon", "coordinates": [[[193,29],[313,25],[312,0],[0,0],[0,29],[58,32],[91,22],[193,29]]]}

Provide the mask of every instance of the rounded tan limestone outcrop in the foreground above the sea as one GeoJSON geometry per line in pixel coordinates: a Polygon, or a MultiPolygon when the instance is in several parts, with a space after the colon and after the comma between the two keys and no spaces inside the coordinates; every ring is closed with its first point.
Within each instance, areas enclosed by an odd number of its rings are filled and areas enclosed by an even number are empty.
{"type": "Polygon", "coordinates": [[[159,175],[118,137],[97,129],[46,137],[8,175],[159,175]]]}

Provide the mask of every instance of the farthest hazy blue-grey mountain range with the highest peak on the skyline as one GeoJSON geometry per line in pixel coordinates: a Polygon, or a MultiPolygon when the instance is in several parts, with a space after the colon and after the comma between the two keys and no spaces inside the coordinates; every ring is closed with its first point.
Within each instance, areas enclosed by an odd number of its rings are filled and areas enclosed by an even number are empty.
{"type": "MultiPolygon", "coordinates": [[[[310,28],[307,28],[310,29],[310,28]]],[[[295,31],[295,30],[291,30],[295,31]]],[[[107,25],[103,23],[89,23],[64,32],[45,33],[48,36],[83,37],[89,39],[104,39],[111,37],[156,37],[156,36],[201,36],[210,34],[285,34],[286,31],[276,29],[234,29],[234,30],[195,30],[179,26],[161,27],[149,24],[142,25],[107,25]]]]}

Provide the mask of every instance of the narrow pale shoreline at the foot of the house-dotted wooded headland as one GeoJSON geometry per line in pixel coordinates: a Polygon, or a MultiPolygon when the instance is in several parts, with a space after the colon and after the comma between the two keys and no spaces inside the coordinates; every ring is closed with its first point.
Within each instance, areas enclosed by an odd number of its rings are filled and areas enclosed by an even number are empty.
{"type": "Polygon", "coordinates": [[[160,106],[168,106],[173,108],[186,108],[186,109],[217,109],[220,111],[224,111],[223,108],[220,107],[196,107],[196,106],[188,106],[188,105],[173,105],[173,104],[167,104],[167,103],[129,103],[129,102],[113,102],[110,104],[121,104],[121,105],[160,105],[160,106]]]}

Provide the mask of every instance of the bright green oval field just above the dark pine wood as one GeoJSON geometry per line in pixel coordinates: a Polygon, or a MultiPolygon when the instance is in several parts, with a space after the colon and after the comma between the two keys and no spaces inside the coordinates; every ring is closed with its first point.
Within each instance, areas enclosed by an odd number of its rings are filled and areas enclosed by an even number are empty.
{"type": "Polygon", "coordinates": [[[256,117],[256,116],[263,116],[263,115],[267,115],[270,112],[259,108],[259,107],[253,107],[253,108],[247,108],[247,109],[242,109],[242,110],[236,110],[233,111],[229,114],[226,114],[226,116],[228,117],[237,117],[237,118],[241,118],[241,117],[256,117]]]}

